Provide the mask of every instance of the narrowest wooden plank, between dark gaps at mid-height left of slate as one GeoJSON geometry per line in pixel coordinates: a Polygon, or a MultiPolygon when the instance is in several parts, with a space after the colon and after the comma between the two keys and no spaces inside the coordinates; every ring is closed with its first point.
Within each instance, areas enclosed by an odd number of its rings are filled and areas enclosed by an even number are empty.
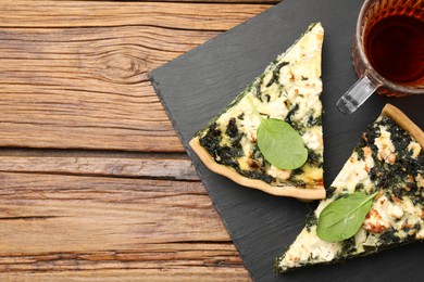
{"type": "Polygon", "coordinates": [[[0,171],[199,180],[187,157],[0,156],[0,171]]]}

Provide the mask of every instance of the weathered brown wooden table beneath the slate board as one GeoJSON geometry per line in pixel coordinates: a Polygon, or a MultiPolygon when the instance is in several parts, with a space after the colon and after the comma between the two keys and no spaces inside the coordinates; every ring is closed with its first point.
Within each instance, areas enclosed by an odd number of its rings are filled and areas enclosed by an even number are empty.
{"type": "Polygon", "coordinates": [[[273,4],[0,1],[0,281],[250,280],[147,74],[273,4]]]}

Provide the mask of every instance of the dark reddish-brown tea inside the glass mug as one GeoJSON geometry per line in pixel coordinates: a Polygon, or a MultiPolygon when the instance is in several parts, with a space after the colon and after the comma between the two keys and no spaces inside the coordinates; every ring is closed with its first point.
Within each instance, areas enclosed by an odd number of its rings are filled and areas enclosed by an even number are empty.
{"type": "Polygon", "coordinates": [[[373,23],[364,49],[375,70],[402,85],[424,79],[424,18],[389,15],[373,23]]]}

